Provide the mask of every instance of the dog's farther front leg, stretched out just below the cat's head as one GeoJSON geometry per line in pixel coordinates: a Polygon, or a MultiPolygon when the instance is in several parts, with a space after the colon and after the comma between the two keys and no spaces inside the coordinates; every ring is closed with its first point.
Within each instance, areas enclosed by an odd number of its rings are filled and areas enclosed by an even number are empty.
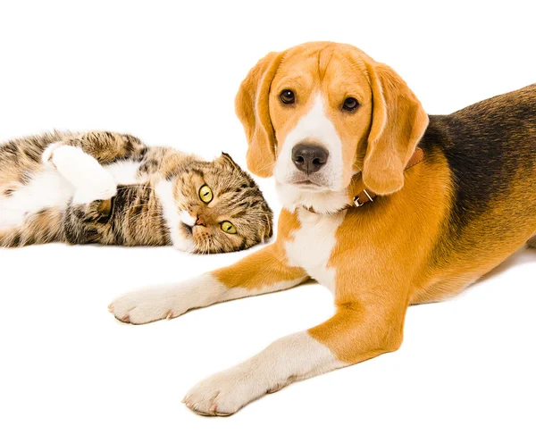
{"type": "Polygon", "coordinates": [[[141,289],[116,298],[110,312],[124,322],[175,318],[190,309],[297,286],[306,272],[289,267],[277,245],[266,246],[238,263],[178,284],[141,289]]]}

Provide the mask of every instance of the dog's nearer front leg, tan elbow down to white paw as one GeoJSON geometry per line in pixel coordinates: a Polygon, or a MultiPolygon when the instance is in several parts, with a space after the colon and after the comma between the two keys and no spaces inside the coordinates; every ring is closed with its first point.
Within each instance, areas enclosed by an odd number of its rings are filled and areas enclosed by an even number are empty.
{"type": "Polygon", "coordinates": [[[199,382],[184,402],[200,414],[228,415],[293,381],[396,350],[406,312],[406,296],[396,292],[363,291],[359,300],[339,301],[330,320],[199,382]]]}

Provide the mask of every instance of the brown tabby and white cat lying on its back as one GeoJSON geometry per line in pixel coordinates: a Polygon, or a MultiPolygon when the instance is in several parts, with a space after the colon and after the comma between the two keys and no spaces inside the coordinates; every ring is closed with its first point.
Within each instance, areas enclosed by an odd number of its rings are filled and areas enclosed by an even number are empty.
{"type": "Polygon", "coordinates": [[[272,210],[228,154],[205,162],[126,134],[54,131],[0,145],[0,246],[247,249],[272,210]]]}

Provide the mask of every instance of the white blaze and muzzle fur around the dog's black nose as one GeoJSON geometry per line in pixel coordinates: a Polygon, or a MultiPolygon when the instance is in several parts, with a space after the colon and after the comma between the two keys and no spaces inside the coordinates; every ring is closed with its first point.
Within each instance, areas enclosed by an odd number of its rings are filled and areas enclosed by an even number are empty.
{"type": "Polygon", "coordinates": [[[322,173],[325,188],[331,191],[339,191],[342,188],[342,142],[337,129],[325,114],[320,94],[314,97],[314,104],[311,110],[297,121],[296,127],[285,138],[281,147],[281,154],[275,166],[275,179],[285,184],[295,178],[298,170],[292,163],[292,149],[306,139],[327,147],[330,152],[328,163],[318,173],[319,175],[322,173]]]}

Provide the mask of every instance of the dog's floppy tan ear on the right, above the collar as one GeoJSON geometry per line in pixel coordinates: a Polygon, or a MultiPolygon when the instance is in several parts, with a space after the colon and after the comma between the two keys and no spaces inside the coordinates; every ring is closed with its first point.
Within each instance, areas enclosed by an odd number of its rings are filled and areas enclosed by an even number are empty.
{"type": "Polygon", "coordinates": [[[404,186],[404,170],[428,126],[428,115],[389,66],[365,62],[373,91],[373,121],[364,155],[363,182],[378,195],[404,186]]]}

